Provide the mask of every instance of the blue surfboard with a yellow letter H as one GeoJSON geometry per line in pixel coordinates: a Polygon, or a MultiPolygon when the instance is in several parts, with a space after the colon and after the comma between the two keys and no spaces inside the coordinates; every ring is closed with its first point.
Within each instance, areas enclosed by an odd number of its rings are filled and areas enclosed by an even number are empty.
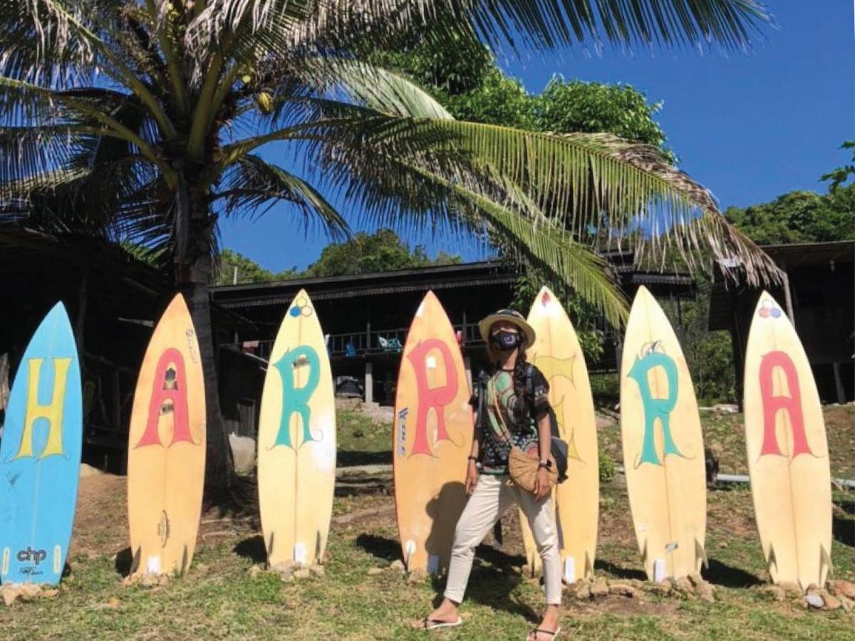
{"type": "Polygon", "coordinates": [[[0,583],[62,577],[80,475],[80,361],[62,303],[32,335],[0,442],[0,583]]]}

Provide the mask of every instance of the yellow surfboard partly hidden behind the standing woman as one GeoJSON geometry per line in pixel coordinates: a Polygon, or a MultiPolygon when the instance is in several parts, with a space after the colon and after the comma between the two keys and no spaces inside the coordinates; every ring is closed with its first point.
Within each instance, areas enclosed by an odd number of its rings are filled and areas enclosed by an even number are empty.
{"type": "MultiPolygon", "coordinates": [[[[563,578],[573,583],[593,576],[597,548],[599,458],[591,383],[573,324],[548,287],[534,298],[528,324],[537,333],[528,361],[549,382],[549,402],[561,438],[568,444],[567,480],[557,486],[554,498],[563,578]]],[[[522,510],[520,523],[528,567],[536,572],[540,556],[522,510]]]]}

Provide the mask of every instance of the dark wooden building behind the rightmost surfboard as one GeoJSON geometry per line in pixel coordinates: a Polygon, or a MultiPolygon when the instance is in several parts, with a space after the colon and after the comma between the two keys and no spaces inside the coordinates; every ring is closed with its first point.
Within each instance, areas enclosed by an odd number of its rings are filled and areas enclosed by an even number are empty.
{"type": "MultiPolygon", "coordinates": [[[[823,403],[855,400],[855,241],[765,245],[786,274],[769,288],[805,345],[823,403]]],[[[737,397],[742,397],[748,330],[761,291],[716,273],[708,328],[733,338],[737,397]]]]}

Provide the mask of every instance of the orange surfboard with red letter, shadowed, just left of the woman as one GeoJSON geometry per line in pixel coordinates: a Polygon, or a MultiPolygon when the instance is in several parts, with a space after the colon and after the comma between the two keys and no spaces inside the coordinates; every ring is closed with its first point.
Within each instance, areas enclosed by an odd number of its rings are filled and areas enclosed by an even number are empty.
{"type": "Polygon", "coordinates": [[[469,383],[454,328],[428,291],[404,344],[392,463],[398,535],[408,570],[445,573],[466,495],[474,432],[469,383]]]}

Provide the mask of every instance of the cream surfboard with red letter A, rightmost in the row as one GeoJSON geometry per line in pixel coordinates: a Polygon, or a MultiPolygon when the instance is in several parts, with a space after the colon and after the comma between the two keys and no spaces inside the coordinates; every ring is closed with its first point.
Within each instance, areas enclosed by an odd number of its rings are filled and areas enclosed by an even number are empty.
{"type": "Polygon", "coordinates": [[[825,585],[831,471],[823,408],[799,336],[763,292],[746,347],[744,409],[754,515],[775,583],[825,585]]]}

